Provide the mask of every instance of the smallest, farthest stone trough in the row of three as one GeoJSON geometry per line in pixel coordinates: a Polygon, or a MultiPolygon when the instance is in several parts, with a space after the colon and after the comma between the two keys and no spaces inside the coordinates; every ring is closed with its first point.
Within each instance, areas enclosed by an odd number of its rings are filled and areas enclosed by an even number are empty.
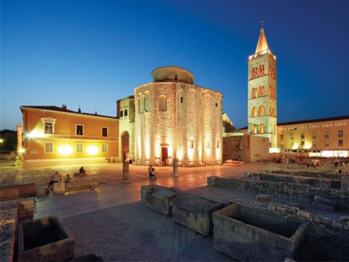
{"type": "Polygon", "coordinates": [[[165,214],[165,216],[171,216],[172,207],[170,201],[175,195],[175,191],[163,187],[151,187],[145,193],[145,205],[152,210],[165,214]]]}

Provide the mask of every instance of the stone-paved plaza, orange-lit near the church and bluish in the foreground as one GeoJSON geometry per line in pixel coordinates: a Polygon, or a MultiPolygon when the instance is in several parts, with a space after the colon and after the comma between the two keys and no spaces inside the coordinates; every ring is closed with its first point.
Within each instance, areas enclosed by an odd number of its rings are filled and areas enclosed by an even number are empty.
{"type": "MultiPolygon", "coordinates": [[[[172,222],[171,217],[146,208],[140,202],[140,187],[159,184],[177,187],[191,193],[241,198],[255,201],[256,194],[207,187],[207,177],[242,177],[245,172],[258,173],[281,168],[276,163],[230,163],[223,166],[179,168],[179,177],[172,177],[172,167],[156,167],[158,178],[149,180],[147,167],[130,166],[131,183],[121,183],[119,163],[86,165],[86,177],[74,180],[96,180],[96,189],[70,191],[35,197],[34,219],[58,215],[75,237],[75,256],[96,254],[105,261],[232,261],[214,250],[213,238],[205,237],[172,222]]],[[[50,175],[76,173],[80,166],[49,168],[1,168],[1,185],[34,182],[47,187],[50,175]]],[[[341,214],[314,210],[305,203],[292,203],[279,198],[272,202],[297,205],[302,210],[338,218],[341,214]]],[[[267,203],[258,203],[267,205],[267,203]]],[[[349,212],[346,212],[349,215],[349,212]]]]}

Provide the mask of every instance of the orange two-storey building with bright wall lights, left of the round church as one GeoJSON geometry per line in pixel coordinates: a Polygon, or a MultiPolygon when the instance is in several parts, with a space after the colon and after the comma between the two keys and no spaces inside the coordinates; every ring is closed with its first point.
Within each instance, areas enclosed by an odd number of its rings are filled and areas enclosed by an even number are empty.
{"type": "Polygon", "coordinates": [[[66,105],[22,106],[24,166],[119,160],[119,119],[68,110],[66,105]]]}

